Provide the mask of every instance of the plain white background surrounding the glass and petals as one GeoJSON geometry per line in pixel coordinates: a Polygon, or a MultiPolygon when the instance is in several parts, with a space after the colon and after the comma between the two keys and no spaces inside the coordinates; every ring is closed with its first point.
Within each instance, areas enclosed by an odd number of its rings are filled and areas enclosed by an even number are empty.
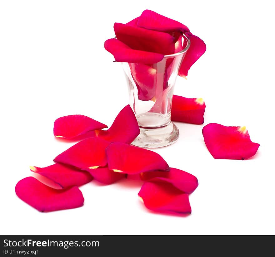
{"type": "MultiPolygon", "coordinates": [[[[274,234],[274,15],[272,1],[1,1],[1,234],[274,234]],[[215,160],[203,125],[176,123],[177,143],[156,150],[199,186],[187,217],[148,211],[142,183],[91,182],[84,206],[40,213],[14,192],[29,166],[45,167],[73,145],[53,137],[60,116],[108,126],[128,104],[121,65],[104,50],[114,22],[151,9],[184,23],[206,53],[175,94],[202,97],[205,124],[246,126],[261,146],[249,160],[215,160]]],[[[205,125],[204,124],[204,125],[205,125]]]]}

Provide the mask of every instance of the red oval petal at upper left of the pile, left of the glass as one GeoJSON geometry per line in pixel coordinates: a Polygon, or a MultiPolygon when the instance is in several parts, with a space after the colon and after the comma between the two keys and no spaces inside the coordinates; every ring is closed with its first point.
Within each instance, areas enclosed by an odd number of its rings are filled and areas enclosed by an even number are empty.
{"type": "Polygon", "coordinates": [[[84,115],[68,115],[55,120],[53,134],[56,137],[74,138],[90,130],[101,128],[107,128],[107,126],[84,115]]]}

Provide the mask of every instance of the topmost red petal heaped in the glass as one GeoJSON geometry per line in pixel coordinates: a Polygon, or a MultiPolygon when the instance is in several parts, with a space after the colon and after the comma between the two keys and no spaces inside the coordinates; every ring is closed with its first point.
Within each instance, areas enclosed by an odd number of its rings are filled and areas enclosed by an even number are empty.
{"type": "Polygon", "coordinates": [[[189,32],[189,29],[182,23],[150,10],[143,11],[138,19],[137,25],[138,27],[163,32],[174,32],[176,30],[189,32]]]}

